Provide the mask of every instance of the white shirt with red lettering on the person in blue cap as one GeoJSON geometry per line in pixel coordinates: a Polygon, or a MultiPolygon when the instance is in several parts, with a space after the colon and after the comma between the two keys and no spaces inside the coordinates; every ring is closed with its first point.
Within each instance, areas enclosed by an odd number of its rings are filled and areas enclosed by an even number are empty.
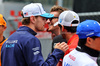
{"type": "Polygon", "coordinates": [[[95,63],[95,61],[87,53],[77,51],[76,49],[74,49],[69,54],[64,56],[63,61],[67,62],[67,63],[70,63],[71,61],[74,61],[73,64],[77,65],[77,66],[81,66],[81,65],[83,65],[83,66],[86,66],[86,65],[92,66],[91,64],[93,64],[93,66],[97,65],[95,63]]]}

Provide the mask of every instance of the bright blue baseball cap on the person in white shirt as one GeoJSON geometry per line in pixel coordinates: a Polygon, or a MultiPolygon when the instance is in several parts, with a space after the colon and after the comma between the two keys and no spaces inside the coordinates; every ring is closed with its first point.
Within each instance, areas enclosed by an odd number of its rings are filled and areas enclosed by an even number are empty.
{"type": "Polygon", "coordinates": [[[100,24],[95,20],[85,20],[77,26],[76,34],[79,39],[92,36],[100,37],[100,24]]]}

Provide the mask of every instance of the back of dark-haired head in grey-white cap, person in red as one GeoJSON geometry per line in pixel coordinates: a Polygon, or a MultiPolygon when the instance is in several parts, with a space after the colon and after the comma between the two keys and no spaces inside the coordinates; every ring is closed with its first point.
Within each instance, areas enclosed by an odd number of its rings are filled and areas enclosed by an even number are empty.
{"type": "Polygon", "coordinates": [[[76,28],[80,23],[80,19],[77,13],[74,11],[64,11],[60,14],[58,24],[63,25],[64,28],[71,33],[76,32],[76,28]]]}

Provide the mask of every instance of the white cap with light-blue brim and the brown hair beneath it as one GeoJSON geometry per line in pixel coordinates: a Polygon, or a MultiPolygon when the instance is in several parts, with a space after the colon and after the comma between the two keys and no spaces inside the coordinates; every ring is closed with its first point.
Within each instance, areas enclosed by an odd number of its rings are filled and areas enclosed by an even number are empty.
{"type": "Polygon", "coordinates": [[[45,18],[52,18],[54,15],[46,13],[41,3],[31,3],[23,7],[21,15],[23,17],[22,24],[28,25],[31,16],[41,16],[45,18]]]}

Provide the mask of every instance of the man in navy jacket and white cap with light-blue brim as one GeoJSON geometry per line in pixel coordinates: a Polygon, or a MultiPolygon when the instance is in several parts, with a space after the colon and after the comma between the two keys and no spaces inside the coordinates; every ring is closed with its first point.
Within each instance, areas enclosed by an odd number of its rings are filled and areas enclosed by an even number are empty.
{"type": "Polygon", "coordinates": [[[56,66],[67,44],[58,43],[44,62],[41,43],[35,37],[36,32],[44,30],[46,19],[54,15],[46,13],[41,3],[31,3],[23,7],[22,16],[22,26],[2,46],[2,66],[56,66]]]}

